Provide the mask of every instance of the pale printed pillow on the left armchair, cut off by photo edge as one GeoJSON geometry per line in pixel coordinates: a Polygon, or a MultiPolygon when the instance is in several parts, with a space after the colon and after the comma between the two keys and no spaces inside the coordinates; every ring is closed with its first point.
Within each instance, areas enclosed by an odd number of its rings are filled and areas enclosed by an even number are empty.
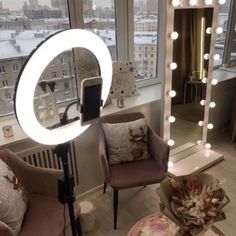
{"type": "Polygon", "coordinates": [[[26,194],[14,173],[0,159],[0,220],[16,234],[27,209],[26,194]]]}

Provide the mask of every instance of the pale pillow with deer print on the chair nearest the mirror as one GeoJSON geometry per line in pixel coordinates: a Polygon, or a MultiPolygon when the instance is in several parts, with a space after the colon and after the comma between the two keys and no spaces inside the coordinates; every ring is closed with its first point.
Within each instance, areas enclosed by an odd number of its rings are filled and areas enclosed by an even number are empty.
{"type": "Polygon", "coordinates": [[[149,157],[147,149],[147,120],[126,123],[103,123],[110,164],[139,161],[149,157]]]}

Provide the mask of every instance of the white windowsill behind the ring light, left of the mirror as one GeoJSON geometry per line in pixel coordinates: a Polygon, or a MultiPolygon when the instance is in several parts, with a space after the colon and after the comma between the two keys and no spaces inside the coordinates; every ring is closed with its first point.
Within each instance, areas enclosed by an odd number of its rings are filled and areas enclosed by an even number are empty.
{"type": "MultiPolygon", "coordinates": [[[[138,107],[144,104],[148,104],[161,99],[161,84],[155,84],[152,86],[144,87],[138,89],[140,95],[125,98],[125,107],[118,108],[116,105],[116,99],[112,99],[112,103],[105,106],[101,111],[101,116],[106,116],[109,114],[113,114],[119,111],[126,111],[134,107],[138,107]]],[[[76,116],[75,112],[72,112],[71,115],[76,116]]],[[[51,123],[51,122],[49,122],[51,123]]],[[[56,123],[56,122],[55,122],[56,123]]],[[[33,127],[32,127],[33,129],[33,127]]],[[[24,131],[19,126],[15,116],[4,117],[0,120],[0,147],[10,147],[11,145],[20,144],[24,141],[28,140],[28,136],[24,133],[24,131]],[[5,138],[3,136],[2,127],[5,125],[11,125],[13,128],[14,136],[5,138]]]]}

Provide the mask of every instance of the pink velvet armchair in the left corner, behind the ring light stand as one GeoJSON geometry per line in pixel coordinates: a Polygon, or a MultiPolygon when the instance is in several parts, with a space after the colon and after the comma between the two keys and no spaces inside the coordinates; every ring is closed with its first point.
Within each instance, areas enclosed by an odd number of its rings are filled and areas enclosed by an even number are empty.
{"type": "MultiPolygon", "coordinates": [[[[68,212],[57,199],[57,179],[63,171],[34,167],[25,163],[8,149],[0,150],[0,158],[11,168],[28,193],[28,208],[18,236],[63,236],[70,225],[68,212]],[[65,217],[64,217],[65,213],[65,217]]],[[[80,230],[78,203],[74,204],[77,227],[80,230]]],[[[0,221],[1,236],[15,236],[14,232],[0,221]]]]}

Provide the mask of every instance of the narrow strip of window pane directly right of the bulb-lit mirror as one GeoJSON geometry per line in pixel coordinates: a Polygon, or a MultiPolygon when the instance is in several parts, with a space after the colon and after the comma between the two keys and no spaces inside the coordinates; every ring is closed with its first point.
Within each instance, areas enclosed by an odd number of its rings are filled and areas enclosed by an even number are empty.
{"type": "Polygon", "coordinates": [[[228,18],[229,18],[229,7],[230,7],[230,0],[226,1],[224,5],[220,5],[220,10],[218,14],[218,27],[223,28],[223,33],[217,34],[215,51],[217,54],[220,55],[221,60],[214,61],[215,66],[222,64],[222,57],[224,53],[224,45],[225,45],[228,18]]]}

